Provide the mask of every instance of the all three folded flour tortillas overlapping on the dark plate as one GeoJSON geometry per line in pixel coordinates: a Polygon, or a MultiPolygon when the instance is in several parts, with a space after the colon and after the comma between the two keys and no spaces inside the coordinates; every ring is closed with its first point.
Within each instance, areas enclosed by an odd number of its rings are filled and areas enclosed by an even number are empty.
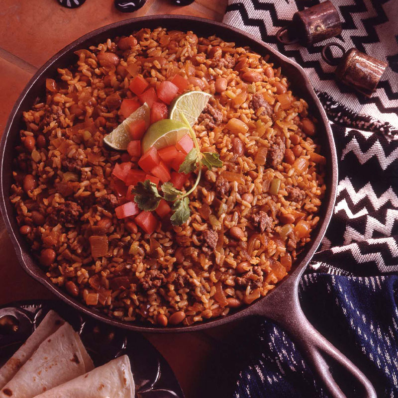
{"type": "Polygon", "coordinates": [[[94,369],[80,336],[54,311],[0,369],[0,398],[134,398],[127,355],[94,369]]]}

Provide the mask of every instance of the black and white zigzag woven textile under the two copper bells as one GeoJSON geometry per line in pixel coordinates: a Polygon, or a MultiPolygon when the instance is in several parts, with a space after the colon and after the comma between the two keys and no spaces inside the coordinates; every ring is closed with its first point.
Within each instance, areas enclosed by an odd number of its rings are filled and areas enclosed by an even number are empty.
{"type": "Polygon", "coordinates": [[[318,0],[229,0],[224,22],[271,44],[306,71],[332,123],[339,158],[334,215],[312,270],[341,275],[398,271],[398,0],[332,0],[339,41],[389,63],[371,99],[335,83],[320,51],[276,40],[293,14],[318,0]]]}

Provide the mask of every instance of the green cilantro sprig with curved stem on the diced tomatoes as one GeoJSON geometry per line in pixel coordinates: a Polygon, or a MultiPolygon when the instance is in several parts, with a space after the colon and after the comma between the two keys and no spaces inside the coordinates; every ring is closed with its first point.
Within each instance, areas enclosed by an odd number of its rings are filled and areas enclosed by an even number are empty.
{"type": "Polygon", "coordinates": [[[218,153],[200,152],[199,143],[195,132],[183,112],[181,112],[181,117],[189,129],[195,147],[192,148],[185,157],[184,162],[180,166],[179,172],[189,174],[199,169],[198,176],[193,187],[188,192],[184,193],[174,187],[172,183],[166,182],[162,184],[161,187],[163,193],[162,197],[159,195],[156,184],[149,180],[145,180],[144,182],[137,183],[132,190],[132,193],[135,194],[134,201],[138,204],[138,207],[141,210],[155,210],[158,207],[161,199],[174,202],[172,207],[173,214],[170,217],[173,225],[183,225],[191,215],[189,206],[190,200],[188,196],[195,191],[199,184],[202,166],[206,166],[209,170],[212,170],[213,167],[222,167],[222,161],[220,160],[218,153]]]}

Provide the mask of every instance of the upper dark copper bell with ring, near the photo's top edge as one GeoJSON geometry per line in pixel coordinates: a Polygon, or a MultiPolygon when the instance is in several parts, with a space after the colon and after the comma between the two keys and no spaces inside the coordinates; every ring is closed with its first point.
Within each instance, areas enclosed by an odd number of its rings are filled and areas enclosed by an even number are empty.
{"type": "Polygon", "coordinates": [[[292,26],[284,26],[277,32],[277,40],[283,44],[300,42],[309,46],[341,33],[340,15],[330,0],[313,5],[293,15],[292,26]],[[288,37],[286,37],[288,36],[288,37]]]}

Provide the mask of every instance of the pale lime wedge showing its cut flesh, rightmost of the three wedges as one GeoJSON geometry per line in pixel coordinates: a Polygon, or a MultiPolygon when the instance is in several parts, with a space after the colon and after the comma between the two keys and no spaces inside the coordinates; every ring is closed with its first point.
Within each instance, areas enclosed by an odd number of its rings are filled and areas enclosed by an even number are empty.
{"type": "Polygon", "coordinates": [[[189,91],[180,97],[177,97],[170,104],[169,118],[183,122],[180,112],[183,112],[191,127],[196,123],[200,113],[206,106],[211,94],[203,91],[189,91]]]}

